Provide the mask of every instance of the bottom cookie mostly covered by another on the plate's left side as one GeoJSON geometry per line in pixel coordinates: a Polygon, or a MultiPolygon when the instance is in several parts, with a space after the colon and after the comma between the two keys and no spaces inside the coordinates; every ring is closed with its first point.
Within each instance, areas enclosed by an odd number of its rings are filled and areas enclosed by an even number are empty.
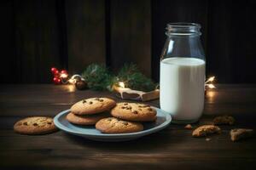
{"type": "Polygon", "coordinates": [[[72,112],[67,114],[67,121],[78,125],[95,125],[102,118],[108,117],[109,113],[100,113],[96,115],[75,115],[72,112]]]}

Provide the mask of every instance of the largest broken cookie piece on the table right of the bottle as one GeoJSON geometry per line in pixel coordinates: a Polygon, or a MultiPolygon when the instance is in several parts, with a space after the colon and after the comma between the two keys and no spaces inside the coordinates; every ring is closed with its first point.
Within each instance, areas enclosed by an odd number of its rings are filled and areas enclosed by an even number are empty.
{"type": "Polygon", "coordinates": [[[203,136],[207,136],[207,135],[213,134],[213,133],[221,133],[221,129],[214,125],[203,125],[201,127],[197,127],[193,131],[192,136],[193,137],[203,137],[203,136]]]}

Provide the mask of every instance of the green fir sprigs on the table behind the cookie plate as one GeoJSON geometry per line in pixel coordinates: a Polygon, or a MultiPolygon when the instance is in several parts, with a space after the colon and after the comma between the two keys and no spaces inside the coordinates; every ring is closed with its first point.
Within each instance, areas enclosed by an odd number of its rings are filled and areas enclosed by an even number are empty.
{"type": "Polygon", "coordinates": [[[87,66],[81,76],[87,82],[88,88],[99,91],[111,91],[113,85],[118,82],[125,82],[126,88],[145,92],[152,91],[156,87],[156,84],[144,76],[134,64],[125,64],[117,76],[114,76],[105,65],[91,64],[87,66]]]}

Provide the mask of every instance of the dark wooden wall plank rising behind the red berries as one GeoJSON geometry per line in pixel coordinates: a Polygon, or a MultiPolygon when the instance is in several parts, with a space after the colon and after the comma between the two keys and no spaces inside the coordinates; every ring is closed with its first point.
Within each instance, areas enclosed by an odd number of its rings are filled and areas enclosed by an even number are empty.
{"type": "Polygon", "coordinates": [[[61,66],[55,10],[55,1],[15,1],[19,82],[50,82],[50,67],[61,66]]]}

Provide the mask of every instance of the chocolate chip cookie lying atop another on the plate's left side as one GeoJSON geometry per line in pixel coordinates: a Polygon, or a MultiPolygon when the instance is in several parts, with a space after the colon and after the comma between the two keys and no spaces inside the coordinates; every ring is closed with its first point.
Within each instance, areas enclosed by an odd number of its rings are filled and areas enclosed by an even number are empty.
{"type": "Polygon", "coordinates": [[[108,111],[115,106],[115,101],[108,98],[83,99],[74,104],[70,111],[76,115],[90,115],[108,111]]]}

